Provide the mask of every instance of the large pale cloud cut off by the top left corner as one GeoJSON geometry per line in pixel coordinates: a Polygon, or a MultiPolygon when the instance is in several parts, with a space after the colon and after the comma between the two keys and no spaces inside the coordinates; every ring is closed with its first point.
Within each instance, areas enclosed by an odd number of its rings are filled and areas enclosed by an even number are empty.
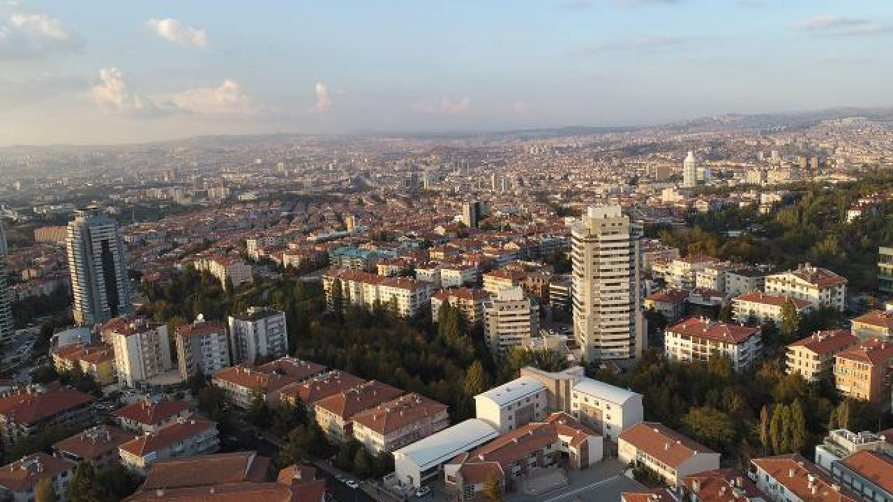
{"type": "Polygon", "coordinates": [[[25,10],[13,0],[0,0],[0,61],[78,52],[82,45],[62,21],[25,10]]]}

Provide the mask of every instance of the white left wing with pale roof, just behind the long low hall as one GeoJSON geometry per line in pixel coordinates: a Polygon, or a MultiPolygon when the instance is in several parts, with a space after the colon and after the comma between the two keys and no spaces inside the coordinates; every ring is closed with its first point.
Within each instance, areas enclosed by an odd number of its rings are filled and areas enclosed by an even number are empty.
{"type": "Polygon", "coordinates": [[[475,416],[492,425],[500,434],[547,415],[547,392],[542,382],[520,377],[474,397],[475,416]]]}

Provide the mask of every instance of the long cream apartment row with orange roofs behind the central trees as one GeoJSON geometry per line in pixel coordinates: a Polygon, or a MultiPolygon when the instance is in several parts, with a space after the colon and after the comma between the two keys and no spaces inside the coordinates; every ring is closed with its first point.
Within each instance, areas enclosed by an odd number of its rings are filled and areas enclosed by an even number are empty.
{"type": "Polygon", "coordinates": [[[368,272],[330,270],[322,276],[326,302],[333,308],[332,291],[335,280],[340,280],[344,305],[373,308],[382,305],[397,315],[412,317],[430,303],[434,289],[430,282],[401,277],[381,277],[368,272]]]}

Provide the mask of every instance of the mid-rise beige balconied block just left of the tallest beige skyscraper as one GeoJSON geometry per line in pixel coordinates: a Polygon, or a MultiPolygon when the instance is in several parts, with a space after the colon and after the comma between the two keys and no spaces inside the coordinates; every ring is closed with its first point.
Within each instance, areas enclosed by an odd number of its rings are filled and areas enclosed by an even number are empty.
{"type": "Polygon", "coordinates": [[[539,332],[539,305],[520,286],[497,291],[483,307],[487,345],[496,354],[522,347],[539,332]]]}

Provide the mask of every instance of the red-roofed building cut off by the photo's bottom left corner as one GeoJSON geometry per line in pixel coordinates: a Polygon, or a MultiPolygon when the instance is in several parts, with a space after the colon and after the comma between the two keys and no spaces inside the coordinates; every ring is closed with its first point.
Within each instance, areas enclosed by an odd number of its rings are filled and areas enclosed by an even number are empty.
{"type": "Polygon", "coordinates": [[[34,502],[38,484],[49,479],[56,502],[67,502],[66,488],[78,464],[38,452],[0,467],[0,498],[34,502]]]}

